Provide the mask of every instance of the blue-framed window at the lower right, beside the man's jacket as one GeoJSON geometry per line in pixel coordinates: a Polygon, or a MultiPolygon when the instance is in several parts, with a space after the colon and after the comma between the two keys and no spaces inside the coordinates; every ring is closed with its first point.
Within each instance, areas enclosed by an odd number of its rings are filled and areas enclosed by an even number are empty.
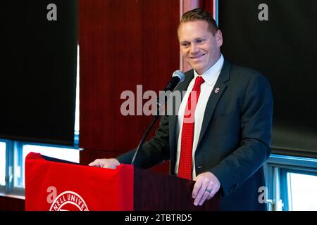
{"type": "Polygon", "coordinates": [[[317,159],[271,154],[264,168],[269,210],[317,210],[317,159]]]}

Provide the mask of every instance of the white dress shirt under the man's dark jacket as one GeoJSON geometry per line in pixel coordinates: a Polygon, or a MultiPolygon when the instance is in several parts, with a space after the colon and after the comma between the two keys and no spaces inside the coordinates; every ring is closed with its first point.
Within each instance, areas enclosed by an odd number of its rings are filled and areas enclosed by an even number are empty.
{"type": "MultiPolygon", "coordinates": [[[[221,55],[218,61],[206,72],[204,72],[203,75],[201,75],[205,82],[201,84],[201,91],[198,98],[196,110],[194,113],[195,124],[194,124],[194,139],[193,139],[193,146],[192,146],[192,179],[196,177],[194,155],[197,148],[197,143],[198,143],[199,134],[201,130],[201,124],[204,120],[204,113],[205,113],[207,102],[209,100],[209,96],[211,95],[213,86],[216,84],[216,81],[219,77],[220,70],[221,68],[223,68],[223,61],[224,61],[223,55],[221,55]]],[[[177,131],[176,134],[178,134],[178,149],[176,153],[175,174],[178,174],[178,165],[180,163],[180,146],[182,143],[182,121],[184,119],[187,100],[188,100],[190,92],[192,91],[194,87],[194,82],[197,76],[198,74],[194,70],[194,79],[192,79],[192,81],[189,83],[186,94],[184,95],[184,98],[182,98],[182,103],[180,103],[180,109],[178,110],[178,124],[177,124],[177,130],[176,130],[177,131]]]]}

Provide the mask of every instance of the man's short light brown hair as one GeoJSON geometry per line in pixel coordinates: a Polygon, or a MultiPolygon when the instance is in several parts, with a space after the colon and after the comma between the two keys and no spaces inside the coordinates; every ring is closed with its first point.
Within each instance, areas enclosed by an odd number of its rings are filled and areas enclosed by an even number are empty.
{"type": "Polygon", "coordinates": [[[186,23],[189,21],[196,21],[196,20],[206,21],[209,25],[209,31],[213,35],[215,35],[217,30],[219,30],[216,24],[216,21],[213,20],[211,13],[209,13],[209,11],[205,11],[203,8],[194,8],[182,14],[182,19],[180,20],[180,24],[178,25],[178,28],[180,28],[180,25],[182,23],[186,23]]]}

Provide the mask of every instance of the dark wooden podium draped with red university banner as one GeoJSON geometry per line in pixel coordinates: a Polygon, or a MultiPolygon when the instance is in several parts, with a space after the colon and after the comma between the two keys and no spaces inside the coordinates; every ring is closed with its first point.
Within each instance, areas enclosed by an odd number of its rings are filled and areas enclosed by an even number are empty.
{"type": "Polygon", "coordinates": [[[29,153],[25,159],[27,211],[219,210],[217,193],[194,206],[194,181],[120,165],[104,169],[29,153]]]}

